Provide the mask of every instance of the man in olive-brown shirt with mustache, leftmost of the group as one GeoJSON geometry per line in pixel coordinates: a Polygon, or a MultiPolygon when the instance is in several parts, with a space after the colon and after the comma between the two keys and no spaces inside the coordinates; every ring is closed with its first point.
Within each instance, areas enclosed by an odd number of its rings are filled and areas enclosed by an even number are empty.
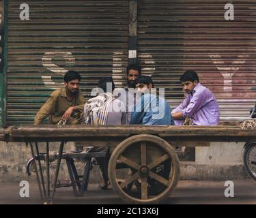
{"type": "Polygon", "coordinates": [[[81,113],[85,98],[79,89],[81,76],[74,71],[68,71],[64,76],[64,87],[61,87],[48,97],[47,101],[35,115],[34,123],[40,125],[49,117],[51,124],[63,121],[68,125],[81,123],[81,113]]]}

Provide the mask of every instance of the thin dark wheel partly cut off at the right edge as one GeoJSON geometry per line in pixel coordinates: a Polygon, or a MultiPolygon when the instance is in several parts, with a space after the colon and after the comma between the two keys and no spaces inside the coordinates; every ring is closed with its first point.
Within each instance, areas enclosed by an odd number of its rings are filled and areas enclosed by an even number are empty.
{"type": "Polygon", "coordinates": [[[244,166],[248,174],[256,181],[256,143],[244,148],[244,166]]]}

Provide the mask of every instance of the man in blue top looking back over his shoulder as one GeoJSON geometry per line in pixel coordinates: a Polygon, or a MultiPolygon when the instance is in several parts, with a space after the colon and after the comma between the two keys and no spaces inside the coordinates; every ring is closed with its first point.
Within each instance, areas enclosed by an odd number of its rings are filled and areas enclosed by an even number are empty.
{"type": "MultiPolygon", "coordinates": [[[[141,99],[134,106],[130,124],[137,125],[174,125],[171,108],[165,98],[153,92],[154,83],[150,76],[139,76],[135,80],[141,99]]],[[[156,91],[155,91],[156,93],[156,91]]]]}

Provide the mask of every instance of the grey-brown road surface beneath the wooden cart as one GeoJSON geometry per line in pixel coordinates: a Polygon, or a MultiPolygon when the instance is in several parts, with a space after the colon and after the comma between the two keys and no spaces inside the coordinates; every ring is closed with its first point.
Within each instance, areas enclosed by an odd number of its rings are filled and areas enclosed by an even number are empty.
{"type": "MultiPolygon", "coordinates": [[[[256,204],[256,182],[233,181],[232,197],[225,197],[225,181],[180,181],[164,204],[256,204]]],[[[29,197],[20,197],[19,183],[0,183],[0,204],[43,204],[37,183],[29,183],[29,197]]],[[[231,193],[226,190],[226,193],[231,193]]],[[[74,197],[71,187],[57,189],[54,204],[126,204],[112,189],[99,191],[89,184],[83,197],[74,197]]]]}

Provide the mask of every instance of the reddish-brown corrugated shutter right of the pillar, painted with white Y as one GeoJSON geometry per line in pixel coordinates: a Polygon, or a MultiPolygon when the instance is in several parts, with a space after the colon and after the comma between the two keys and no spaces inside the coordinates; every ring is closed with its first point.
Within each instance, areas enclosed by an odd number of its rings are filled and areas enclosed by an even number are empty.
{"type": "Polygon", "coordinates": [[[193,69],[216,96],[221,119],[248,117],[256,102],[256,1],[141,0],[138,10],[139,63],[166,88],[172,108],[184,97],[180,76],[193,69]],[[225,20],[227,3],[234,20],[225,20]]]}

